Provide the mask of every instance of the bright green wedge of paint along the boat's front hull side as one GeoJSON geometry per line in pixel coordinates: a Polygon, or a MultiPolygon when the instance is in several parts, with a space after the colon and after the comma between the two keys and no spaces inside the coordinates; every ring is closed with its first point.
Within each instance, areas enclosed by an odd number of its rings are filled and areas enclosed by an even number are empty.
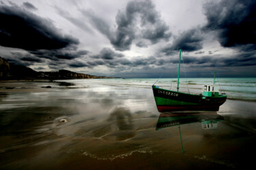
{"type": "Polygon", "coordinates": [[[172,99],[165,99],[162,97],[155,97],[156,105],[199,105],[199,103],[190,103],[186,101],[176,101],[172,99]]]}

